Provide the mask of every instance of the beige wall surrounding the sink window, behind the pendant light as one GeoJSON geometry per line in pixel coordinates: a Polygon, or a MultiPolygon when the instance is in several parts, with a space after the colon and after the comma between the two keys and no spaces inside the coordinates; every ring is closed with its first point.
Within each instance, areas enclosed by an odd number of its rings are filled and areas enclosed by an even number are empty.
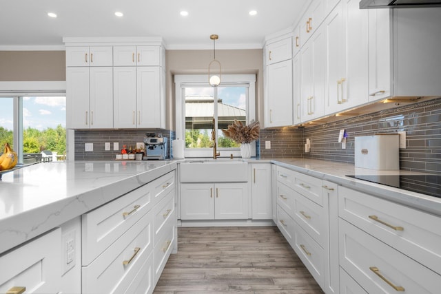
{"type": "MultiPolygon", "coordinates": [[[[216,50],[222,74],[256,74],[256,116],[263,120],[263,50],[216,50]]],[[[167,128],[174,124],[174,75],[208,74],[213,50],[167,50],[167,128]]]]}

